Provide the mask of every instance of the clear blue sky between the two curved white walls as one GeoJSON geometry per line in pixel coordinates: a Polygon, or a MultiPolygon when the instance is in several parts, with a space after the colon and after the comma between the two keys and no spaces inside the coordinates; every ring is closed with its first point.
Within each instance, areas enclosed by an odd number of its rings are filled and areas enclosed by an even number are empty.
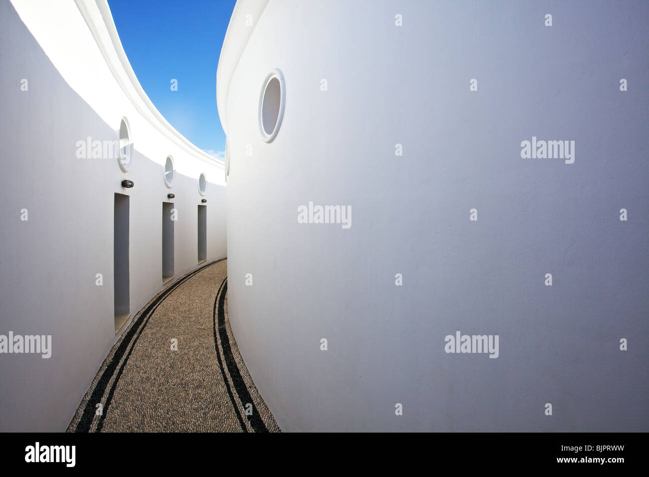
{"type": "Polygon", "coordinates": [[[158,111],[188,140],[221,157],[216,67],[235,3],[108,0],[133,71],[158,111]],[[178,91],[171,91],[172,79],[178,91]]]}

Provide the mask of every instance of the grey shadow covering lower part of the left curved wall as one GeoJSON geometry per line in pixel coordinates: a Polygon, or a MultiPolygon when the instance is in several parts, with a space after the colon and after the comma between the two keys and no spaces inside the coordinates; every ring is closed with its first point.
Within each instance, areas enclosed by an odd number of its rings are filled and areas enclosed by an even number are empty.
{"type": "Polygon", "coordinates": [[[136,131],[124,173],[103,155],[119,131],[69,87],[10,2],[0,2],[0,26],[0,142],[12,158],[3,162],[0,334],[51,336],[50,358],[1,355],[0,431],[61,432],[116,341],[115,314],[134,314],[162,289],[161,204],[177,211],[167,266],[182,276],[225,256],[225,187],[206,182],[203,196],[198,178],[175,173],[167,188],[164,167],[136,149],[136,131]],[[87,138],[102,141],[100,158],[77,154],[87,138]]]}

